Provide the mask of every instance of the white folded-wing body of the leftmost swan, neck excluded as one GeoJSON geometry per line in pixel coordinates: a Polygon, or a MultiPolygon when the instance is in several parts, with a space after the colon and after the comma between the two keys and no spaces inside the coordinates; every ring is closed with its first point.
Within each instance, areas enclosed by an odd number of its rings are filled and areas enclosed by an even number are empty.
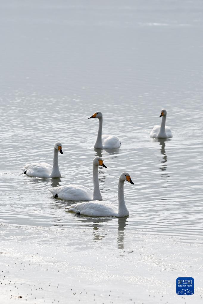
{"type": "Polygon", "coordinates": [[[52,166],[47,163],[32,163],[26,164],[22,169],[23,172],[32,177],[49,178],[52,171],[52,166]]]}

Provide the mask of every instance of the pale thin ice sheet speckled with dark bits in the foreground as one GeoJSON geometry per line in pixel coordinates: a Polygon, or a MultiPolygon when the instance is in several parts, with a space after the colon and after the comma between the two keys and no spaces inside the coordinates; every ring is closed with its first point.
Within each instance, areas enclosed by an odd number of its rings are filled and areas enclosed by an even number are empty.
{"type": "Polygon", "coordinates": [[[126,230],[0,228],[1,303],[202,303],[199,244],[126,230]],[[182,275],[199,278],[192,297],[176,295],[182,275]]]}

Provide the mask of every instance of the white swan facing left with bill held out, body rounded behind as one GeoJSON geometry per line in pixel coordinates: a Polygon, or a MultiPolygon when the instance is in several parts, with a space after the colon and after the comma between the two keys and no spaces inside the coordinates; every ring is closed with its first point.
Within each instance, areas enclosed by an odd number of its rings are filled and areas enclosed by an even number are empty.
{"type": "MultiPolygon", "coordinates": [[[[121,146],[121,142],[115,135],[102,135],[102,113],[96,112],[89,118],[98,118],[99,119],[99,130],[97,135],[97,140],[94,145],[95,149],[116,149],[121,146]]],[[[89,119],[88,118],[88,119],[89,119]]]]}

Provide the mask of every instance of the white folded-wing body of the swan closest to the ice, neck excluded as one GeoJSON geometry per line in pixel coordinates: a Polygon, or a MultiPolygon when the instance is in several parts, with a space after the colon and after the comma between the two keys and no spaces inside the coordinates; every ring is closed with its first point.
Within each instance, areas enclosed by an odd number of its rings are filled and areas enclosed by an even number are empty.
{"type": "Polygon", "coordinates": [[[70,212],[75,212],[87,216],[117,216],[118,210],[109,202],[92,201],[73,204],[67,208],[70,212]]]}

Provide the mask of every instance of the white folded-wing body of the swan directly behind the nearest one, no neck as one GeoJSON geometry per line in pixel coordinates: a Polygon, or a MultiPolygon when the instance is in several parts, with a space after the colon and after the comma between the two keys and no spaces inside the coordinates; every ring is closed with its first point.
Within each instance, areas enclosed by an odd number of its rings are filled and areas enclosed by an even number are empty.
{"type": "Polygon", "coordinates": [[[57,194],[59,199],[68,201],[91,201],[93,191],[82,185],[64,185],[48,189],[53,196],[57,194]]]}

